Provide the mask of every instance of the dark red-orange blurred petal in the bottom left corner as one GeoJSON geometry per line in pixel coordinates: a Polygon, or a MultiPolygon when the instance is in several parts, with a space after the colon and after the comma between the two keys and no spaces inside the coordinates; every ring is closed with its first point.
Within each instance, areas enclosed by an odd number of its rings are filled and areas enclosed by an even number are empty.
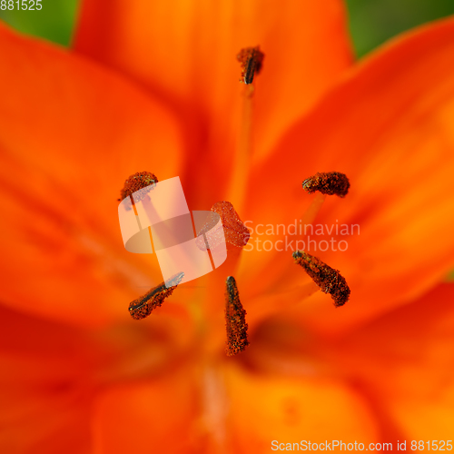
{"type": "Polygon", "coordinates": [[[159,318],[150,322],[91,330],[0,305],[0,450],[92,452],[90,425],[99,390],[167,370],[187,350],[187,337],[170,337],[159,318]]]}

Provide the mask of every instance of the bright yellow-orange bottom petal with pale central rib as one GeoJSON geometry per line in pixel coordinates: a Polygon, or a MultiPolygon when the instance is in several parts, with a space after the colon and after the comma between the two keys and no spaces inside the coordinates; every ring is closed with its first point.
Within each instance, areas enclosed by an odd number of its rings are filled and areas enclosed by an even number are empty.
{"type": "Polygon", "coordinates": [[[94,452],[265,452],[272,439],[300,442],[301,433],[312,442],[377,440],[367,405],[346,382],[255,374],[235,363],[207,371],[202,389],[183,368],[105,390],[95,405],[94,452]]]}

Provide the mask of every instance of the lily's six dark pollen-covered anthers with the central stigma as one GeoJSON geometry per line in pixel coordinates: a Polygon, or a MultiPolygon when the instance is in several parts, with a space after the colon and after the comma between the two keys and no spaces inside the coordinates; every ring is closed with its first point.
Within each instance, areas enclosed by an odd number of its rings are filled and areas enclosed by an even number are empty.
{"type": "MultiPolygon", "coordinates": [[[[234,200],[235,206],[240,206],[244,202],[246,193],[247,178],[250,173],[252,159],[252,98],[254,94],[254,86],[252,85],[254,75],[259,74],[262,70],[262,61],[264,55],[260,51],[259,46],[247,47],[241,50],[237,55],[237,59],[242,64],[242,79],[240,81],[245,84],[243,92],[243,108],[242,108],[242,130],[240,141],[236,147],[233,157],[232,179],[229,190],[230,200],[234,200]]],[[[131,199],[131,204],[136,211],[133,202],[132,194],[135,200],[146,200],[148,192],[152,191],[155,184],[158,183],[156,175],[150,172],[140,172],[131,175],[124,183],[121,191],[121,199],[128,197],[131,199]]],[[[345,197],[350,188],[350,182],[346,175],[338,172],[331,173],[316,173],[307,178],[302,183],[302,187],[306,192],[318,192],[317,196],[311,203],[309,209],[303,215],[304,223],[311,223],[315,216],[321,210],[321,206],[327,195],[336,194],[339,197],[345,197]]],[[[210,242],[211,247],[215,248],[225,239],[225,242],[233,246],[233,250],[241,252],[242,248],[250,239],[250,232],[241,221],[238,213],[233,208],[231,202],[216,202],[212,206],[212,212],[219,214],[222,220],[222,229],[213,232],[214,239],[218,238],[219,242],[210,242]],[[217,236],[216,236],[217,235],[217,236]]],[[[211,251],[210,247],[204,239],[205,231],[212,231],[210,222],[203,226],[198,236],[201,237],[201,242],[197,245],[202,250],[211,251]]],[[[210,254],[211,257],[211,254],[210,254]]],[[[230,270],[236,269],[236,264],[240,256],[234,253],[231,256],[230,270]]],[[[341,276],[340,271],[332,269],[320,259],[314,257],[307,252],[293,252],[293,259],[296,263],[308,273],[312,281],[325,293],[331,294],[336,307],[342,306],[350,297],[350,288],[345,279],[341,276]]],[[[212,258],[211,258],[212,260],[212,258]]],[[[225,275],[225,274],[224,274],[225,275]]],[[[183,280],[183,272],[175,274],[169,281],[163,282],[150,291],[147,291],[140,298],[132,301],[129,304],[129,312],[134,320],[142,320],[152,313],[152,311],[160,307],[163,301],[168,298],[176,289],[178,284],[183,280]]],[[[215,279],[216,284],[221,282],[215,279]]],[[[239,298],[239,292],[235,279],[232,276],[227,278],[225,282],[225,323],[227,333],[227,348],[228,356],[242,352],[248,345],[247,329],[248,324],[245,321],[246,311],[242,307],[242,302],[239,298]]],[[[272,291],[271,291],[272,293],[272,291]]]]}

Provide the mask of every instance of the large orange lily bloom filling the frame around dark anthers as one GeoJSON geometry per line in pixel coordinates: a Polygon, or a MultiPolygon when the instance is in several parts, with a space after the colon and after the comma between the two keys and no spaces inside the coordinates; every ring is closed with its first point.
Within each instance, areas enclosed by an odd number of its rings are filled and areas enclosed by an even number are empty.
{"type": "Polygon", "coordinates": [[[337,0],[177,4],[87,0],[72,51],[0,25],[0,451],[448,440],[454,19],[352,64],[337,0]],[[257,44],[252,98],[235,55],[257,44]],[[316,223],[360,234],[314,254],[350,301],[314,292],[293,250],[254,247],[131,320],[160,279],[118,228],[124,180],[143,170],[180,175],[191,210],[232,202],[252,246],[259,224],[313,218],[305,178],[347,174],[316,223]],[[230,274],[250,326],[232,358],[230,274]]]}

